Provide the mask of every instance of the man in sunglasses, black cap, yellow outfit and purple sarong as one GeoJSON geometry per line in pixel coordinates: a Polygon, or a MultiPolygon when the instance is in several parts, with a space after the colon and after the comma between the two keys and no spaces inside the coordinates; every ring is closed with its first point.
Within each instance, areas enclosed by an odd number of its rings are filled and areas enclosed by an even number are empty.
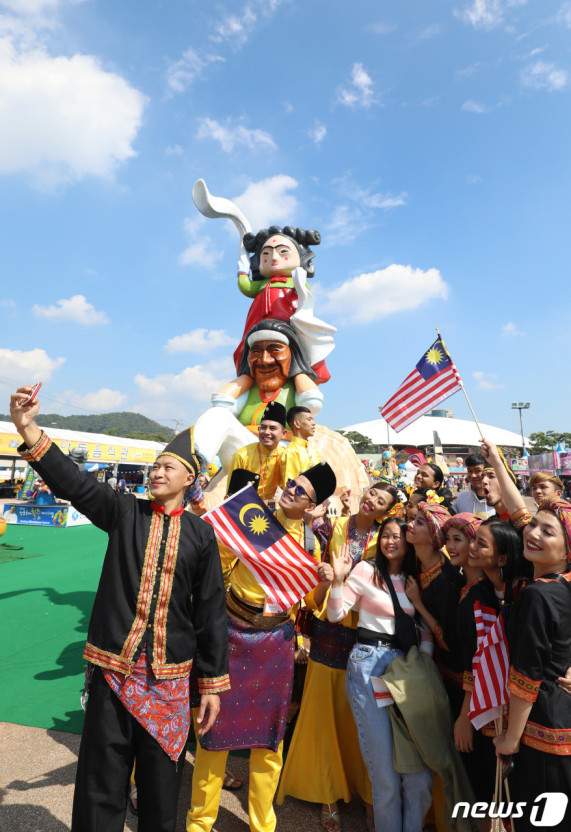
{"type": "MultiPolygon", "coordinates": [[[[303,517],[335,491],[332,468],[321,462],[286,484],[276,518],[319,561],[317,540],[303,517]],[[309,531],[309,534],[308,534],[309,531]]],[[[305,597],[315,607],[313,590],[305,597]]],[[[282,769],[283,737],[291,699],[295,608],[264,615],[266,596],[238,561],[227,594],[232,696],[222,694],[221,713],[208,740],[197,745],[187,832],[210,832],[220,804],[228,752],[250,748],[248,811],[251,832],[274,832],[273,799],[282,769]]]]}

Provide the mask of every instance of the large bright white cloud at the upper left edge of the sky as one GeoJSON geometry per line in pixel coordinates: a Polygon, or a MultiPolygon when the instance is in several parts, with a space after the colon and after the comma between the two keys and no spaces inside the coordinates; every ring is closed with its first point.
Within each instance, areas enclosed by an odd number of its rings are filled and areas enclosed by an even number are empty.
{"type": "Polygon", "coordinates": [[[0,173],[40,187],[110,177],[135,156],[145,96],[90,55],[53,57],[0,39],[0,173]]]}

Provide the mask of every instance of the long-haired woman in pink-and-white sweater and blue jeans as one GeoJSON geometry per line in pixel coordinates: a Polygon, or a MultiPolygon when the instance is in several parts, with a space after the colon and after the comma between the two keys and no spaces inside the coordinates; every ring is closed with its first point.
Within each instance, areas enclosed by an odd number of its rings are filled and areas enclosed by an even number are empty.
{"type": "MultiPolygon", "coordinates": [[[[406,528],[406,523],[397,518],[385,520],[379,530],[375,561],[361,561],[352,572],[351,556],[346,547],[342,548],[333,562],[335,577],[327,603],[330,621],[340,621],[351,609],[359,613],[346,690],[373,787],[376,832],[421,832],[432,802],[431,772],[401,775],[393,767],[393,734],[386,711],[393,700],[381,678],[393,659],[404,655],[396,644],[389,580],[402,609],[414,616],[414,607],[404,591],[406,578],[414,569],[414,552],[406,542],[406,528]]],[[[421,633],[420,649],[430,654],[432,636],[426,628],[421,633]]]]}

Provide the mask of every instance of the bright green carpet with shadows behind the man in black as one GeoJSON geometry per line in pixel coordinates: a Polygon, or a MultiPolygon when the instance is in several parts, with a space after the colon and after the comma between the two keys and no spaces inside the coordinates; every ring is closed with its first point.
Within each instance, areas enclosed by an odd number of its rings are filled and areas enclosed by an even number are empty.
{"type": "Polygon", "coordinates": [[[82,653],[107,535],[8,526],[0,543],[23,547],[5,548],[17,559],[0,563],[0,721],[81,733],[82,653]]]}

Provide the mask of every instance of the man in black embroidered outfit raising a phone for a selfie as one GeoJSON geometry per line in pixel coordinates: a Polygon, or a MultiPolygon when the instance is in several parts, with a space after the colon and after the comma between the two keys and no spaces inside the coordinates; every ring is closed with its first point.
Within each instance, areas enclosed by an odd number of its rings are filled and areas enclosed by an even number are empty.
{"type": "Polygon", "coordinates": [[[199,734],[230,687],[220,557],[212,527],[182,507],[200,466],[192,428],[175,436],[149,476],[152,501],[120,494],[79,470],[35,421],[31,387],[10,400],[23,459],[58,497],[109,535],[84,658],[89,692],[72,832],[123,832],[136,757],[139,832],[174,832],[195,665],[199,734]]]}

